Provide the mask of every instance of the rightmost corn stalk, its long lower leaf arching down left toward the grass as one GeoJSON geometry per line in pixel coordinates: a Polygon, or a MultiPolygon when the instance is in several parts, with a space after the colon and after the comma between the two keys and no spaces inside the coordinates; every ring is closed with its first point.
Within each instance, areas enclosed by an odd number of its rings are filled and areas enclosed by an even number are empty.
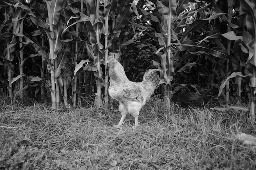
{"type": "MultiPolygon", "coordinates": [[[[234,77],[240,77],[244,79],[247,95],[249,98],[250,103],[250,116],[252,122],[255,121],[255,98],[256,98],[256,4],[253,2],[250,2],[249,0],[240,0],[240,13],[242,15],[238,16],[238,20],[245,20],[240,26],[243,28],[244,31],[244,37],[237,36],[234,31],[227,32],[225,34],[222,34],[225,38],[228,40],[241,40],[242,43],[240,43],[241,51],[244,53],[247,53],[247,62],[243,64],[245,66],[245,73],[241,72],[234,72],[230,76],[227,77],[227,79],[223,80],[221,86],[220,86],[220,93],[222,93],[222,90],[224,86],[229,84],[229,80],[234,77]],[[245,14],[243,14],[245,13],[245,14]],[[246,29],[244,29],[246,27],[246,29]]],[[[231,6],[231,4],[230,4],[231,6]]],[[[242,58],[242,56],[241,56],[242,58]]],[[[242,61],[242,60],[241,60],[242,61]]],[[[241,63],[240,61],[240,63],[241,63]]],[[[241,70],[241,68],[239,68],[241,70]]],[[[238,82],[238,88],[239,84],[241,82],[238,82]]],[[[240,95],[240,91],[238,92],[240,95]]]]}

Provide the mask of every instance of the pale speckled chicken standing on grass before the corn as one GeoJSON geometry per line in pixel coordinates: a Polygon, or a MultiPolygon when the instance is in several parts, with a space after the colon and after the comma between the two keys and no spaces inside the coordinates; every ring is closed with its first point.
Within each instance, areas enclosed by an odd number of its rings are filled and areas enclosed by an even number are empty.
{"type": "Polygon", "coordinates": [[[149,69],[146,71],[142,82],[131,82],[124,72],[124,67],[114,58],[108,60],[110,86],[109,95],[119,102],[119,111],[121,119],[117,127],[124,124],[124,118],[127,113],[135,117],[135,128],[139,126],[139,111],[146,101],[159,86],[159,76],[156,71],[159,69],[149,69]]]}

